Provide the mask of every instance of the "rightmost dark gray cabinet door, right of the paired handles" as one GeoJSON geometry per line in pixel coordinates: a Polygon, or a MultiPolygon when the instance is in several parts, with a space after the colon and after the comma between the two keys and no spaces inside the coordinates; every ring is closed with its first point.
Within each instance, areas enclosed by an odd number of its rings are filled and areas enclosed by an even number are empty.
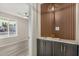
{"type": "Polygon", "coordinates": [[[63,51],[65,56],[77,56],[77,45],[64,44],[63,51]]]}

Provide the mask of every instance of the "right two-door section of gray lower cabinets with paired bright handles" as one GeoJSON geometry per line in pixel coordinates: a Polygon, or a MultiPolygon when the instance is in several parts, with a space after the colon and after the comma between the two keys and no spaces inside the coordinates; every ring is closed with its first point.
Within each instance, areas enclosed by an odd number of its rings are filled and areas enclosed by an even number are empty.
{"type": "Polygon", "coordinates": [[[54,42],[54,56],[77,56],[77,45],[54,42]]]}

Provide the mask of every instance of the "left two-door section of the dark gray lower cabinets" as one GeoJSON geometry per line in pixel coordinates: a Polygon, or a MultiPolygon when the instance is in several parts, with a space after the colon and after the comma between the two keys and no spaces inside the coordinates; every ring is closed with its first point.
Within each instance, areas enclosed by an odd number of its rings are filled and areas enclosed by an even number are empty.
{"type": "Polygon", "coordinates": [[[46,40],[37,40],[37,55],[51,56],[51,42],[46,40]]]}

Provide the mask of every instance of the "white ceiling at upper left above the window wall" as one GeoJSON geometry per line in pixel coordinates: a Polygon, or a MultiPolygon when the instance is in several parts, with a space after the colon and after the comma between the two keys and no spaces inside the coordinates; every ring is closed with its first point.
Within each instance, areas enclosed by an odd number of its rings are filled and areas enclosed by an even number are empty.
{"type": "Polygon", "coordinates": [[[0,3],[0,12],[26,18],[29,13],[29,4],[26,3],[0,3]]]}

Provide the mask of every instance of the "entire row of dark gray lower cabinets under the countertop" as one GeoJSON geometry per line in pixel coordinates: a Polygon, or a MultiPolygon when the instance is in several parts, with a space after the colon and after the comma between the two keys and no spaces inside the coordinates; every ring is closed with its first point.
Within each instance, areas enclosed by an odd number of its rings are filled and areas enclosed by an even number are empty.
{"type": "Polygon", "coordinates": [[[38,56],[77,56],[77,51],[77,45],[75,44],[37,39],[38,56]]]}

